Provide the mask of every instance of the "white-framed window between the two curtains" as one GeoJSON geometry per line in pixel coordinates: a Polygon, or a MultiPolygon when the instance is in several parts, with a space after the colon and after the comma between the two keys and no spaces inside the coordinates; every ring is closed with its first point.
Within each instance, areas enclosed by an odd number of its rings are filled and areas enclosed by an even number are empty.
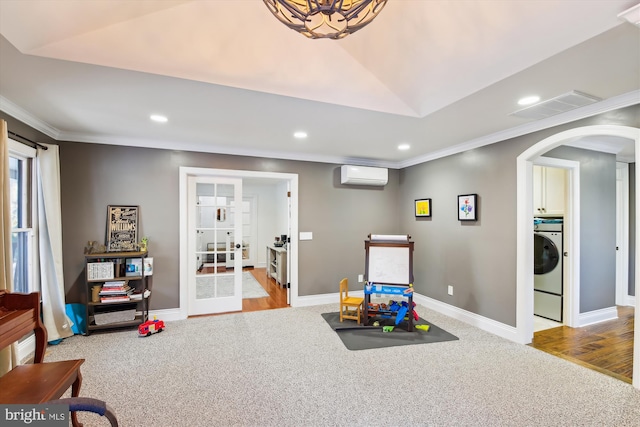
{"type": "Polygon", "coordinates": [[[33,162],[35,154],[35,149],[9,140],[11,251],[13,256],[14,292],[40,290],[34,275],[35,179],[33,162]]]}

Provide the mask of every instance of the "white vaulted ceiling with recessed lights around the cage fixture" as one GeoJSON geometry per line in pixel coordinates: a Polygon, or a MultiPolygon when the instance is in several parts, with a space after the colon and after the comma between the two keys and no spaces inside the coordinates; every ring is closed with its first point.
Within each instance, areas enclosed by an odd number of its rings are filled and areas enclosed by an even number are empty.
{"type": "Polygon", "coordinates": [[[58,140],[402,167],[639,103],[636,3],[389,0],[335,41],[261,1],[2,0],[0,109],[58,140]],[[573,90],[602,101],[510,115],[573,90]]]}

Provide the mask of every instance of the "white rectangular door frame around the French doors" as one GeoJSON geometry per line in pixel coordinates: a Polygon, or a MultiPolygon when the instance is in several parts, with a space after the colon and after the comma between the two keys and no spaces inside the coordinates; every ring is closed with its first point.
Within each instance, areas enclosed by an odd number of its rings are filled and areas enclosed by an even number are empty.
{"type": "Polygon", "coordinates": [[[188,317],[188,224],[187,224],[187,182],[190,176],[202,177],[231,177],[231,178],[261,178],[277,181],[287,181],[291,189],[289,218],[291,221],[291,242],[287,245],[290,253],[290,301],[295,307],[298,304],[298,174],[280,172],[261,172],[234,169],[210,169],[182,166],[179,168],[180,209],[180,316],[188,317]]]}

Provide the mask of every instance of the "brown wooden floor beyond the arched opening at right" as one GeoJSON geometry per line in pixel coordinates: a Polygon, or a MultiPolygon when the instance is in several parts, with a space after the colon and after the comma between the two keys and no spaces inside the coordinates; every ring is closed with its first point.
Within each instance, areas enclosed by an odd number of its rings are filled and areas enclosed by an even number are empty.
{"type": "Polygon", "coordinates": [[[560,326],[536,332],[530,344],[589,369],[631,383],[634,308],[618,307],[618,319],[583,328],[560,326]]]}

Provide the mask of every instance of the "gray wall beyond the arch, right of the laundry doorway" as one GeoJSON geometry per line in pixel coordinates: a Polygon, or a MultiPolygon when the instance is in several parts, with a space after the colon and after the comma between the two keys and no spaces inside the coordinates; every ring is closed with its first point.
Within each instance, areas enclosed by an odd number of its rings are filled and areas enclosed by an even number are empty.
{"type": "Polygon", "coordinates": [[[545,154],[580,163],[580,312],[616,302],[616,158],[558,147],[545,154]]]}

